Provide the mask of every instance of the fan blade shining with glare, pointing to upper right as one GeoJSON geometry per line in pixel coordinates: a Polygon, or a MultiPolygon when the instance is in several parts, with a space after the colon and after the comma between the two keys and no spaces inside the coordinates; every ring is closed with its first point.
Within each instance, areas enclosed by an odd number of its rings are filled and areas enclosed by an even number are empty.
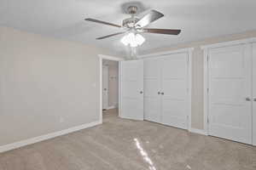
{"type": "Polygon", "coordinates": [[[151,22],[154,22],[154,20],[160,19],[163,16],[164,14],[161,14],[156,10],[150,10],[148,14],[145,14],[143,18],[137,21],[135,26],[140,26],[140,27],[148,26],[148,24],[150,24],[151,22]]]}

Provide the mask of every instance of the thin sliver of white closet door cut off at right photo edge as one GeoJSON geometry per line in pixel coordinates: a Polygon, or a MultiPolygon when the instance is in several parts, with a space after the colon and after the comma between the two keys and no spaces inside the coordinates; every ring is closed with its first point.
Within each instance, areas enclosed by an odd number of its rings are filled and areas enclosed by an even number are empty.
{"type": "Polygon", "coordinates": [[[253,145],[256,145],[256,43],[253,43],[253,145]]]}

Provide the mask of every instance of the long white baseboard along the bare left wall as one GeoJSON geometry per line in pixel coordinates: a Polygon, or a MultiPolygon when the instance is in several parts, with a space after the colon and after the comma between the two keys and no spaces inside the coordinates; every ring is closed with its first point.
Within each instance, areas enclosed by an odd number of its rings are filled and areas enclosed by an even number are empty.
{"type": "Polygon", "coordinates": [[[100,122],[100,121],[90,122],[90,123],[86,123],[83,125],[79,125],[77,127],[70,127],[65,130],[55,132],[55,133],[44,134],[42,136],[38,136],[38,137],[35,137],[32,139],[21,140],[19,142],[15,142],[12,144],[5,144],[5,145],[0,146],[0,153],[2,153],[4,151],[8,151],[8,150],[14,150],[14,149],[20,148],[22,146],[26,146],[28,144],[35,144],[35,143],[41,142],[43,140],[52,139],[52,138],[55,138],[55,137],[58,137],[58,136],[61,136],[61,135],[67,134],[67,133],[73,133],[73,132],[82,130],[84,128],[94,127],[99,124],[102,124],[102,122],[100,122]]]}

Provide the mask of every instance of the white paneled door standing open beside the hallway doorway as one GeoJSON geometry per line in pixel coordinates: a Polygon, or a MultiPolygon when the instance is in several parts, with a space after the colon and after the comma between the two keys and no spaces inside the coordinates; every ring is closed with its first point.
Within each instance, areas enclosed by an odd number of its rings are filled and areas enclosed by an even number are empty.
{"type": "Polygon", "coordinates": [[[121,61],[120,78],[119,116],[143,120],[143,60],[121,61]]]}

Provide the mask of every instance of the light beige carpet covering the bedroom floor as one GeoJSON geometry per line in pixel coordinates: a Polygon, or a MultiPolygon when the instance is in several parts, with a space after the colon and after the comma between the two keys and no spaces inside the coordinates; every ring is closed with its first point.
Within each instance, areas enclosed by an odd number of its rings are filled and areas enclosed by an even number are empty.
{"type": "Polygon", "coordinates": [[[120,119],[0,155],[0,170],[255,170],[256,148],[120,119]]]}

